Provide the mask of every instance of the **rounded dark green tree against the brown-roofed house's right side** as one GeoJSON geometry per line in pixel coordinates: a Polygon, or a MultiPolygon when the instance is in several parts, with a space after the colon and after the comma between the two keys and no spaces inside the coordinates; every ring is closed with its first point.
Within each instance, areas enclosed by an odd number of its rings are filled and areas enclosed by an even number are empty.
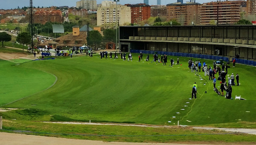
{"type": "Polygon", "coordinates": [[[97,45],[101,44],[102,42],[102,35],[99,33],[98,30],[92,30],[89,32],[89,40],[87,40],[87,43],[89,45],[94,44],[94,50],[97,50],[97,45]]]}

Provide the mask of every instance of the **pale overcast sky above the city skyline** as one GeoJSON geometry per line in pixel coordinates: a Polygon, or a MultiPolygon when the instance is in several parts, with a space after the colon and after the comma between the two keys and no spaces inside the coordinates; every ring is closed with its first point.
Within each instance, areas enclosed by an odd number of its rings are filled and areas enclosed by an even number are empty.
{"type": "MultiPolygon", "coordinates": [[[[0,9],[15,9],[18,6],[22,8],[23,6],[29,6],[30,0],[0,0],[0,9]]],[[[76,6],[76,2],[80,0],[33,0],[33,6],[76,6]]],[[[97,4],[101,3],[103,0],[97,0],[97,4]]],[[[149,5],[156,5],[157,0],[148,0],[149,5]]],[[[161,0],[162,5],[168,3],[175,3],[177,0],[161,0]]],[[[186,2],[189,0],[183,0],[186,2]]],[[[197,3],[207,3],[214,0],[196,0],[197,3]]],[[[143,3],[143,0],[120,0],[120,4],[130,3],[143,3]]]]}

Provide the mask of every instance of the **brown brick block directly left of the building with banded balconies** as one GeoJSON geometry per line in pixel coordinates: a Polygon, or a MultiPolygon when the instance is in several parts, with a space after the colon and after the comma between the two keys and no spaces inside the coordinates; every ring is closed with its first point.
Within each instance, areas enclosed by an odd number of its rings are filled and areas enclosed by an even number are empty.
{"type": "Polygon", "coordinates": [[[167,20],[177,20],[181,25],[199,23],[198,8],[200,3],[171,3],[167,4],[167,20]]]}

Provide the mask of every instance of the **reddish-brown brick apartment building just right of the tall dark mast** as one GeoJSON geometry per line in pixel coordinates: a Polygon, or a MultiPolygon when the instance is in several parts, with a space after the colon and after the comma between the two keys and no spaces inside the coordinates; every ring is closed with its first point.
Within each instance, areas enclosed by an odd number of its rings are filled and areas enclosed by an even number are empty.
{"type": "Polygon", "coordinates": [[[62,12],[60,10],[37,11],[34,13],[34,22],[45,24],[46,22],[62,23],[62,12]]]}

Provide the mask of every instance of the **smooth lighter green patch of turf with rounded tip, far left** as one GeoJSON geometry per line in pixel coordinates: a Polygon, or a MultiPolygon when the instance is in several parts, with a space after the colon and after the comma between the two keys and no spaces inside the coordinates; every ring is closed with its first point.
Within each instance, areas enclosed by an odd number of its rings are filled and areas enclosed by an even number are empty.
{"type": "Polygon", "coordinates": [[[38,93],[55,81],[55,77],[49,73],[12,65],[14,63],[0,60],[0,106],[38,93]],[[41,78],[45,81],[41,81],[41,78]]]}

